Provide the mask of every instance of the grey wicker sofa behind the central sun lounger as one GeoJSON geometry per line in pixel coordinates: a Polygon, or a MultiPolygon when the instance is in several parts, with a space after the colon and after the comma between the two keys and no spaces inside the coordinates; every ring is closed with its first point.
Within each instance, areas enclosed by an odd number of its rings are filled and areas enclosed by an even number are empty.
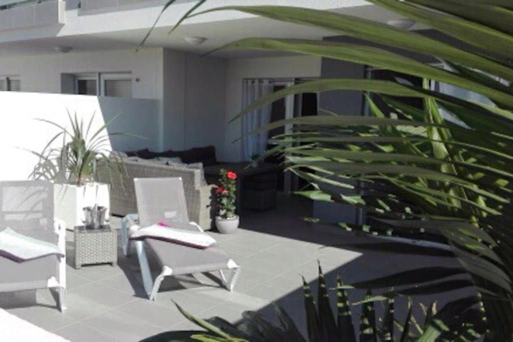
{"type": "Polygon", "coordinates": [[[98,180],[110,184],[110,212],[124,216],[137,212],[135,201],[134,178],[149,177],[181,177],[184,185],[189,217],[204,230],[212,227],[214,203],[212,185],[202,185],[202,175],[199,169],[189,169],[182,166],[166,165],[141,158],[123,158],[121,169],[100,166],[98,180]],[[110,173],[110,174],[109,174],[110,173]]]}

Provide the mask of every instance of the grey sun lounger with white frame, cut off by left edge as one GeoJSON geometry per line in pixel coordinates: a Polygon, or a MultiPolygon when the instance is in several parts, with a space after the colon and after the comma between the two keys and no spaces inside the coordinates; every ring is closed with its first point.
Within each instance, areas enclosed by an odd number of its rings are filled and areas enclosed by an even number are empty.
{"type": "MultiPolygon", "coordinates": [[[[66,254],[66,227],[53,216],[53,184],[33,180],[0,182],[0,230],[58,246],[66,254]]],[[[66,257],[55,254],[16,262],[0,255],[0,292],[49,288],[66,309],[66,257]]]]}

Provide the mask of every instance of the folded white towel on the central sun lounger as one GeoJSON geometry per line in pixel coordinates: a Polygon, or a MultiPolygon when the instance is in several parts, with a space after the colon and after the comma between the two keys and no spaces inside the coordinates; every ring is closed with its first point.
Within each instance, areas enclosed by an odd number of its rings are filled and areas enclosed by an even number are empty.
{"type": "Polygon", "coordinates": [[[164,227],[161,225],[152,225],[135,231],[131,230],[130,233],[130,239],[132,240],[154,238],[199,249],[205,249],[217,243],[212,236],[205,232],[175,227],[164,227]]]}

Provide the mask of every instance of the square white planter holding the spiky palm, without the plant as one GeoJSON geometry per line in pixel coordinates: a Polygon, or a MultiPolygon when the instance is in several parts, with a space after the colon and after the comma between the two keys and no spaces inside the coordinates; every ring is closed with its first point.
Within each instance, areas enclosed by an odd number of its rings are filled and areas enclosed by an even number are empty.
{"type": "Polygon", "coordinates": [[[91,183],[84,186],[74,184],[54,184],[53,191],[55,217],[66,223],[72,230],[75,226],[84,225],[84,207],[103,206],[107,208],[105,217],[110,215],[109,185],[91,183]]]}

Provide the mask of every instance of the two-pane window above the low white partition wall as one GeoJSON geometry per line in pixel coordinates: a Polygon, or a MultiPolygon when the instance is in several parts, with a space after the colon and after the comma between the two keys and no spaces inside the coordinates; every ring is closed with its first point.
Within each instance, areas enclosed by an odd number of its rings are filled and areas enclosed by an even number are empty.
{"type": "Polygon", "coordinates": [[[92,73],[75,75],[75,94],[132,97],[131,73],[92,73]]]}

